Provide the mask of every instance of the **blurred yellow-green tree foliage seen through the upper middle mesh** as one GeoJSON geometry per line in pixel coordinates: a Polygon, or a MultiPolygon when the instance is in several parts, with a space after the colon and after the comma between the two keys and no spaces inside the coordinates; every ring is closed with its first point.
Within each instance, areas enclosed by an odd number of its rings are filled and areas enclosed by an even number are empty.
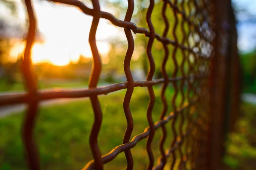
{"type": "MultiPolygon", "coordinates": [[[[180,3],[180,2],[179,2],[180,3]]],[[[107,3],[107,6],[111,6],[113,8],[115,8],[115,17],[117,17],[120,20],[123,20],[125,17],[125,13],[127,10],[127,3],[124,3],[124,1],[121,0],[117,0],[111,3],[107,3]]],[[[143,27],[143,28],[147,28],[147,23],[146,23],[146,12],[149,6],[149,2],[148,0],[139,0],[137,2],[135,2],[135,8],[134,8],[134,13],[133,13],[133,17],[131,22],[136,23],[136,25],[138,27],[143,27]]],[[[188,6],[187,3],[184,3],[184,7],[185,10],[187,12],[188,15],[188,6]]],[[[163,31],[164,31],[164,21],[162,18],[162,13],[160,11],[162,11],[163,8],[163,2],[160,2],[159,0],[157,0],[155,2],[155,6],[154,6],[154,10],[153,13],[151,15],[151,21],[154,25],[154,30],[157,34],[160,34],[162,36],[163,31]]],[[[181,9],[182,10],[182,9],[181,9]]],[[[174,11],[172,10],[172,8],[167,7],[166,9],[166,16],[168,18],[169,21],[169,31],[167,34],[167,37],[171,40],[175,40],[174,36],[173,36],[173,27],[175,24],[175,17],[174,17],[174,11]]],[[[196,17],[194,18],[196,19],[196,17]]],[[[175,31],[175,34],[177,36],[177,41],[179,43],[181,43],[183,36],[188,36],[188,31],[189,31],[189,26],[188,24],[185,22],[184,25],[182,24],[182,17],[178,16],[177,17],[177,28],[175,31]],[[182,27],[185,30],[185,34],[183,35],[181,29],[182,27]]],[[[191,37],[191,35],[190,35],[191,37]]],[[[146,45],[148,43],[148,37],[145,37],[143,34],[135,34],[134,35],[134,42],[135,42],[135,49],[134,49],[134,54],[131,60],[131,69],[134,68],[139,68],[141,70],[143,70],[144,74],[147,75],[148,74],[148,69],[149,69],[149,62],[148,62],[148,58],[147,58],[147,54],[146,54],[146,45]],[[136,61],[136,62],[135,62],[136,61]],[[133,64],[132,64],[133,63],[133,64]],[[140,63],[140,64],[138,64],[140,63]],[[134,65],[136,65],[134,67],[134,65]]],[[[123,41],[123,42],[119,42],[119,40],[112,40],[111,41],[111,45],[112,48],[109,52],[109,57],[111,58],[115,58],[115,59],[110,59],[111,61],[111,65],[108,66],[108,69],[113,69],[116,71],[123,71],[123,65],[117,64],[120,62],[123,62],[126,50],[127,50],[127,41],[123,41]]],[[[188,44],[185,42],[185,45],[188,46],[188,44]]],[[[193,45],[193,43],[191,44],[193,45]]],[[[168,45],[169,47],[169,60],[166,64],[166,71],[169,74],[169,76],[172,75],[172,72],[174,71],[174,62],[172,59],[172,54],[173,54],[173,46],[172,45],[168,45]]],[[[158,40],[154,40],[154,44],[152,47],[152,56],[154,58],[155,61],[155,65],[156,65],[156,69],[155,69],[155,74],[154,76],[156,78],[160,78],[162,77],[161,74],[161,64],[163,61],[163,57],[164,57],[164,50],[163,50],[163,45],[161,42],[159,42],[158,40]]],[[[182,61],[182,53],[180,51],[180,49],[177,49],[176,53],[175,53],[175,58],[178,62],[178,65],[180,66],[180,63],[182,61]]],[[[185,72],[187,70],[187,65],[184,65],[184,69],[185,72]]],[[[180,68],[178,68],[178,75],[180,74],[180,68]]]]}

